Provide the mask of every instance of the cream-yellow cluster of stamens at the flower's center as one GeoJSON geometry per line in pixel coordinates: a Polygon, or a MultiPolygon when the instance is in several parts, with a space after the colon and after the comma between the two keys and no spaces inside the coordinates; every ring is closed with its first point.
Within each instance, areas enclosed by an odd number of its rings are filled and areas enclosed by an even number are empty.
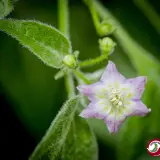
{"type": "Polygon", "coordinates": [[[109,99],[113,106],[115,106],[118,109],[121,108],[123,106],[122,98],[123,97],[119,89],[111,90],[109,99]]]}

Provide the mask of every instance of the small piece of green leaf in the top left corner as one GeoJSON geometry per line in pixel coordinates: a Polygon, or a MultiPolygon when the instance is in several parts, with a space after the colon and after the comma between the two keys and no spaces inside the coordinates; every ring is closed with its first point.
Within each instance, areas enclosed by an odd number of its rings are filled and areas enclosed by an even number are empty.
{"type": "Polygon", "coordinates": [[[7,16],[13,10],[10,0],[0,0],[0,18],[7,16]]]}

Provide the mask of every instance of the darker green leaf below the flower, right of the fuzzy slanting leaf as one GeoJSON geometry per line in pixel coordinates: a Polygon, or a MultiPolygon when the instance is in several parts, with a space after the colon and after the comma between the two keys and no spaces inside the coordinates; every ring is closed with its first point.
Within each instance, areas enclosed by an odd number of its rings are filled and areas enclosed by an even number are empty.
{"type": "Polygon", "coordinates": [[[87,121],[78,116],[71,124],[65,146],[62,150],[62,160],[98,160],[97,142],[87,121]]]}

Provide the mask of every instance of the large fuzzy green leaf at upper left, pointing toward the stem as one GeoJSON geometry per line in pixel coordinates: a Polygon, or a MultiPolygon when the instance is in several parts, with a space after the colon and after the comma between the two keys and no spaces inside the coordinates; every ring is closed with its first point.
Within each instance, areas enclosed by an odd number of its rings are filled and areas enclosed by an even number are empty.
{"type": "Polygon", "coordinates": [[[37,21],[1,19],[0,30],[17,39],[45,64],[62,67],[62,60],[71,53],[68,39],[57,29],[37,21]]]}

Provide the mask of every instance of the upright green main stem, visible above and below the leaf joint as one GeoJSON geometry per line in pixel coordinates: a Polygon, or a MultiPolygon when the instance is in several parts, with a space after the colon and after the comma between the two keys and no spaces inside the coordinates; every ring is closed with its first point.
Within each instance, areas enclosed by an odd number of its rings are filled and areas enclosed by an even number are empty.
{"type": "MultiPolygon", "coordinates": [[[[58,0],[58,19],[59,30],[69,38],[69,11],[68,0],[58,0]]],[[[73,81],[73,75],[68,73],[65,77],[65,86],[68,92],[68,97],[75,95],[75,86],[73,81]]]]}

